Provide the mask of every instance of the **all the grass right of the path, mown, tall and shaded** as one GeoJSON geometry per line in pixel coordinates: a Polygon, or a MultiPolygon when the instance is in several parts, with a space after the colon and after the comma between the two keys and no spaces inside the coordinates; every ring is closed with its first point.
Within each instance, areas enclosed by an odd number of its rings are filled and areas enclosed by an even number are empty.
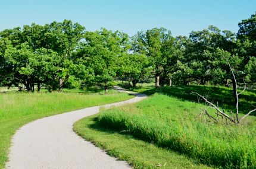
{"type": "MultiPolygon", "coordinates": [[[[135,168],[256,167],[255,116],[249,116],[241,125],[225,120],[214,123],[200,115],[200,109],[206,108],[212,115],[214,110],[189,94],[194,91],[207,95],[214,103],[224,100],[228,112],[233,110],[234,102],[228,99],[232,98],[229,88],[176,86],[133,90],[150,96],[139,103],[103,110],[98,116],[80,120],[74,130],[135,168]],[[126,148],[120,148],[120,143],[125,143],[126,148]],[[141,153],[133,149],[139,146],[143,147],[141,153]],[[150,146],[156,150],[152,151],[150,146]]],[[[240,97],[241,113],[246,113],[256,102],[255,91],[245,91],[240,97]]]]}

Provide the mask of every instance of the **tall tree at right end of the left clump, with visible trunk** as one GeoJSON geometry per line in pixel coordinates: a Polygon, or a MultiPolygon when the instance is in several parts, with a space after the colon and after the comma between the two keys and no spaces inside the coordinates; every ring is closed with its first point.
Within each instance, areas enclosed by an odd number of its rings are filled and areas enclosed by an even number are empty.
{"type": "MultiPolygon", "coordinates": [[[[58,65],[59,91],[62,91],[65,81],[68,81],[69,65],[73,63],[72,53],[77,47],[79,41],[83,38],[85,28],[78,23],[72,23],[70,20],[64,20],[62,23],[53,22],[46,24],[46,33],[44,34],[46,49],[54,50],[60,56],[61,61],[58,65]]],[[[74,75],[75,76],[75,75],[74,75]]]]}

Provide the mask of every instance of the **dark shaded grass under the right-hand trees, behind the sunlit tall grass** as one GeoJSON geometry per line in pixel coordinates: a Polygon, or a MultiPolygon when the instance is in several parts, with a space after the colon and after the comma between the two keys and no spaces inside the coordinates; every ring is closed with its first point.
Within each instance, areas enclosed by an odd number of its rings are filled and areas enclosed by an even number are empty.
{"type": "MultiPolygon", "coordinates": [[[[139,93],[152,95],[155,93],[166,94],[172,97],[179,98],[180,100],[193,101],[198,103],[198,96],[191,94],[192,92],[204,95],[209,101],[221,107],[224,104],[224,109],[227,111],[235,112],[235,98],[233,97],[232,88],[227,87],[213,87],[213,86],[198,86],[198,85],[177,85],[173,87],[159,87],[152,88],[152,86],[145,87],[125,87],[129,90],[136,90],[139,93]]],[[[200,103],[205,103],[204,100],[199,100],[200,103]]],[[[250,110],[255,109],[256,106],[256,91],[248,90],[239,95],[239,111],[240,113],[248,113],[250,110]]],[[[255,116],[256,112],[251,115],[255,116]]]]}

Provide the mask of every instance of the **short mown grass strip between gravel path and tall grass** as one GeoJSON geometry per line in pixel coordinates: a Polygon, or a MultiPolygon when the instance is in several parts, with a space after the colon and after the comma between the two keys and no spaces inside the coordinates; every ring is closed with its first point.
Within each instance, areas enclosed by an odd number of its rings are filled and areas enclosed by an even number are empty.
{"type": "Polygon", "coordinates": [[[108,130],[96,124],[96,117],[98,114],[79,120],[74,124],[74,131],[109,155],[128,161],[134,168],[211,168],[125,132],[108,130]]]}

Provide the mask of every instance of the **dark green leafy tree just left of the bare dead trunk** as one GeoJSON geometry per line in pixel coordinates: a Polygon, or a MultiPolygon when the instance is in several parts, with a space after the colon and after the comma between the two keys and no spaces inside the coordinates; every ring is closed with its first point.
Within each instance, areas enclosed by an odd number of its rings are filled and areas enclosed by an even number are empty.
{"type": "MultiPolygon", "coordinates": [[[[220,66],[216,64],[219,58],[216,58],[214,53],[217,49],[223,49],[233,55],[233,49],[236,47],[235,34],[210,25],[208,29],[192,31],[189,39],[184,41],[185,50],[183,57],[179,59],[177,71],[183,77],[183,84],[192,81],[199,84],[205,84],[207,81],[227,84],[229,77],[224,74],[220,76],[220,66]]],[[[228,74],[230,69],[224,68],[224,72],[228,74]]]]}

